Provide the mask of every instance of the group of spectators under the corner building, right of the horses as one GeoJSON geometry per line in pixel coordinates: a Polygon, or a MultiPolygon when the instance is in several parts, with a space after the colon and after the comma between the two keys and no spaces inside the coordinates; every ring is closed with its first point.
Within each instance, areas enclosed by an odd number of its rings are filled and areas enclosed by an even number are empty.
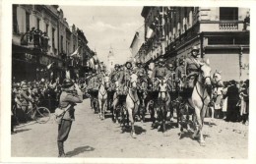
{"type": "Polygon", "coordinates": [[[224,87],[215,88],[213,106],[215,118],[248,125],[249,80],[224,82],[224,87]]]}

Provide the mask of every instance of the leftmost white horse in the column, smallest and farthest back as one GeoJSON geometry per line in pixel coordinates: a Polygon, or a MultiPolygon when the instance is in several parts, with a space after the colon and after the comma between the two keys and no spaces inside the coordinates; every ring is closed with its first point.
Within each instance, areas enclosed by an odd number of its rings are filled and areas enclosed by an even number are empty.
{"type": "Polygon", "coordinates": [[[104,76],[102,81],[99,85],[97,99],[98,99],[98,106],[99,106],[99,118],[104,120],[104,113],[107,107],[107,89],[109,87],[109,77],[104,76]]]}

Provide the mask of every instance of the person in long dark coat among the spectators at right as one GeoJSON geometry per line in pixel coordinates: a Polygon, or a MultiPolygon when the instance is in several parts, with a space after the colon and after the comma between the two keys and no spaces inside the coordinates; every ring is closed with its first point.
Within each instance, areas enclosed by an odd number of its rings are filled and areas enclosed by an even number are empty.
{"type": "Polygon", "coordinates": [[[227,98],[227,109],[226,109],[226,119],[225,121],[236,121],[238,113],[237,112],[237,102],[239,100],[239,90],[236,87],[235,81],[230,82],[230,86],[227,88],[226,94],[224,95],[227,98]]]}

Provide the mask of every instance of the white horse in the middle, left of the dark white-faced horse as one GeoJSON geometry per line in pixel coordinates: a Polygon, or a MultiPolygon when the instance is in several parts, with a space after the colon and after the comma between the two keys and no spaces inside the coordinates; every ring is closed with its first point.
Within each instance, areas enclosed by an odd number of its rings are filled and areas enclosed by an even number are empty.
{"type": "Polygon", "coordinates": [[[126,96],[126,110],[129,115],[129,121],[131,122],[131,136],[135,137],[134,120],[135,114],[138,112],[140,100],[137,94],[137,80],[136,74],[131,75],[130,85],[128,88],[128,94],[126,96]]]}

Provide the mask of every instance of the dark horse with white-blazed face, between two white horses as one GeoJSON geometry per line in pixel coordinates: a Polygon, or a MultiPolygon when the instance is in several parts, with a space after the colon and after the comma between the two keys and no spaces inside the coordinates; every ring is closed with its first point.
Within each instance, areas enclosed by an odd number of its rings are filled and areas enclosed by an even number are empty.
{"type": "Polygon", "coordinates": [[[161,129],[162,133],[165,133],[166,127],[165,127],[165,121],[167,116],[167,111],[170,107],[170,95],[168,93],[168,84],[166,82],[166,79],[160,80],[160,91],[159,91],[159,116],[160,116],[160,123],[161,123],[161,129]]]}

